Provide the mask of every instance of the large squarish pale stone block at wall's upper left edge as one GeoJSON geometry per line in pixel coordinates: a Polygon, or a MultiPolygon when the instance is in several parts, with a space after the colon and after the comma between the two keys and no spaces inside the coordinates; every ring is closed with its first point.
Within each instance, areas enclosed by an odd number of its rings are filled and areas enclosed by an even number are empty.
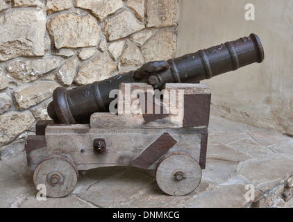
{"type": "Polygon", "coordinates": [[[0,61],[44,56],[46,17],[40,10],[9,10],[0,15],[0,61]]]}

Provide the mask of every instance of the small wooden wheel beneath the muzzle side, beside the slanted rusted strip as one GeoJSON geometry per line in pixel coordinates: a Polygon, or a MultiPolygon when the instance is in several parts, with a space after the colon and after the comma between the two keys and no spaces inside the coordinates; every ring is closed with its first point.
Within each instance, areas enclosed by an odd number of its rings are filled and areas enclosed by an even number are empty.
{"type": "Polygon", "coordinates": [[[158,162],[156,180],[166,194],[184,196],[199,186],[201,167],[189,153],[167,153],[158,162]]]}

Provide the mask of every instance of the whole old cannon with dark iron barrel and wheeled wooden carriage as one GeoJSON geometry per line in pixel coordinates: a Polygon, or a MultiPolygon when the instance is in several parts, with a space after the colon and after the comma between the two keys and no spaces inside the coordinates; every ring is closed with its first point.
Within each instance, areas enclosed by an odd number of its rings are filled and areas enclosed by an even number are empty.
{"type": "Polygon", "coordinates": [[[56,88],[52,120],[37,121],[36,135],[26,138],[35,186],[60,198],[74,190],[78,171],[128,166],[154,171],[165,194],[190,194],[201,182],[208,144],[211,90],[199,81],[264,58],[251,34],[83,87],[56,88]],[[112,89],[119,89],[117,113],[109,112],[112,89]],[[156,89],[164,89],[162,98],[156,89]]]}

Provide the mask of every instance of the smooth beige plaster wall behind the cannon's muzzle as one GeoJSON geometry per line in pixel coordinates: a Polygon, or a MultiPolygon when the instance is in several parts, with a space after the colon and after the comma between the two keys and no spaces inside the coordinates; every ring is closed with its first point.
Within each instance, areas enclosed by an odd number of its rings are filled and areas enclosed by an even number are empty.
{"type": "Polygon", "coordinates": [[[293,1],[184,0],[176,56],[256,33],[265,61],[210,80],[212,114],[293,135],[293,1]],[[255,20],[245,19],[247,3],[255,20]]]}

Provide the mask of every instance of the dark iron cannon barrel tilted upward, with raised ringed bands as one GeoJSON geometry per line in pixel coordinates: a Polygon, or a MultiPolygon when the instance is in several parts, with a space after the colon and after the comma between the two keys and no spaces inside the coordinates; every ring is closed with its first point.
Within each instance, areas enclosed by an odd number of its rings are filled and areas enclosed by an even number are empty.
{"type": "Polygon", "coordinates": [[[119,89],[120,83],[149,83],[154,89],[162,89],[166,83],[199,83],[264,59],[259,37],[251,34],[179,58],[148,62],[136,71],[82,87],[70,90],[58,87],[47,110],[56,123],[89,123],[92,113],[109,112],[114,100],[109,94],[112,89],[119,89]]]}

